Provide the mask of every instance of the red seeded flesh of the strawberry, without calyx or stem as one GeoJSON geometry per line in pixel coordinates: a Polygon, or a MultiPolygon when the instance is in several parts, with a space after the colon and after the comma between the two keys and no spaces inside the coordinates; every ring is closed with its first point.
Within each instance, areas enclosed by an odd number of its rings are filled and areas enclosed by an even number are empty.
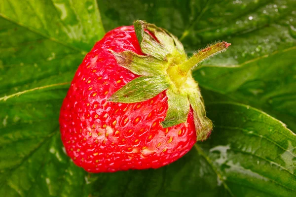
{"type": "Polygon", "coordinates": [[[89,172],[158,168],[181,158],[196,142],[192,108],[187,122],[163,128],[166,91],[136,103],[108,101],[139,77],[120,66],[111,51],[145,55],[133,26],[110,31],[86,55],[61,108],[67,154],[89,172]]]}

